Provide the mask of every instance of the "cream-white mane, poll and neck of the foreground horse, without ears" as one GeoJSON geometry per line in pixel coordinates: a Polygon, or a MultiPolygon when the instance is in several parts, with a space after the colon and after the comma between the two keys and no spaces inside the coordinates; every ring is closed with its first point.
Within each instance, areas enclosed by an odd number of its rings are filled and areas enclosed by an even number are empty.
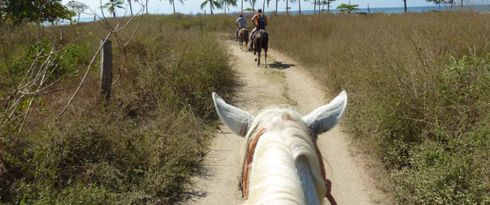
{"type": "Polygon", "coordinates": [[[291,107],[269,107],[252,122],[245,135],[241,156],[247,153],[259,128],[267,131],[260,137],[250,165],[249,197],[245,204],[306,204],[302,182],[296,172],[297,161],[305,159],[315,181],[319,202],[323,202],[326,187],[315,142],[301,127],[305,126],[301,119],[302,116],[291,107]]]}

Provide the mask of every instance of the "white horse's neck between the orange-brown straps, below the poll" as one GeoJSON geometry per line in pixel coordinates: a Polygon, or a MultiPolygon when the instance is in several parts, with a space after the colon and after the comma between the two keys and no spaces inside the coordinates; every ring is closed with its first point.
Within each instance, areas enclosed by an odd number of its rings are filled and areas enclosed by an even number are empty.
{"type": "MultiPolygon", "coordinates": [[[[257,143],[246,204],[323,204],[310,163],[315,156],[297,128],[264,133],[257,143]],[[296,134],[295,134],[296,133],[296,134]]],[[[320,192],[323,193],[323,192],[320,192]]]]}

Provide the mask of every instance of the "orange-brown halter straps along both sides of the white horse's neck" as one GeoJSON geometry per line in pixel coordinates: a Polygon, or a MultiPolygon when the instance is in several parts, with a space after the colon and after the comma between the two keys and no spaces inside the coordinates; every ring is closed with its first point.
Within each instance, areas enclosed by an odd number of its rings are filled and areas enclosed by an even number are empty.
{"type": "MultiPolygon", "coordinates": [[[[332,193],[330,193],[330,191],[332,189],[332,182],[330,182],[330,180],[328,180],[326,177],[325,165],[323,164],[323,159],[321,158],[321,152],[318,148],[317,141],[315,140],[313,135],[311,135],[310,131],[308,131],[308,129],[306,127],[304,127],[302,124],[299,124],[298,122],[295,122],[293,120],[286,120],[286,121],[294,122],[297,126],[299,126],[299,128],[301,128],[303,131],[305,131],[308,134],[308,136],[310,136],[311,140],[313,141],[313,144],[315,145],[315,151],[317,152],[318,161],[319,161],[320,167],[321,167],[321,178],[323,179],[323,183],[325,183],[325,186],[327,188],[327,193],[326,193],[325,197],[327,197],[328,202],[330,202],[330,204],[336,205],[335,199],[332,196],[332,193]]],[[[249,149],[247,151],[247,156],[245,157],[245,162],[243,163],[242,180],[241,180],[242,187],[241,187],[241,189],[242,189],[242,195],[245,198],[245,200],[247,200],[247,197],[248,197],[248,195],[247,195],[247,191],[248,191],[247,188],[248,187],[247,186],[248,186],[249,167],[250,167],[250,164],[252,164],[252,160],[254,159],[253,156],[254,156],[255,148],[257,146],[258,139],[260,139],[260,137],[262,137],[262,135],[265,133],[265,130],[266,130],[266,128],[262,127],[254,135],[254,138],[252,139],[252,143],[250,143],[249,149]]]]}

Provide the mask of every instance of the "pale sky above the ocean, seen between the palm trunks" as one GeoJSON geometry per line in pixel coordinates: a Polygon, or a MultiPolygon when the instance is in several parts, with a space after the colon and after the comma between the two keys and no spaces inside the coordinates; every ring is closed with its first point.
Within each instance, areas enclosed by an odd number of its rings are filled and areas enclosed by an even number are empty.
{"type": "MultiPolygon", "coordinates": [[[[63,3],[68,3],[71,0],[62,0],[63,3]]],[[[96,10],[97,14],[101,14],[101,10],[99,9],[102,3],[107,3],[108,0],[77,0],[79,2],[85,3],[88,5],[92,10],[96,10]]],[[[125,0],[123,0],[125,1],[125,0]]],[[[132,0],[135,1],[135,0],[132,0]]],[[[142,1],[142,0],[139,0],[142,1]]],[[[204,10],[201,10],[201,3],[204,0],[186,0],[184,3],[180,3],[178,0],[175,1],[175,12],[180,12],[183,14],[197,14],[197,13],[204,13],[204,10]]],[[[256,3],[256,8],[262,8],[263,5],[263,0],[257,0],[258,2],[256,3]]],[[[301,2],[301,9],[302,10],[313,10],[313,1],[315,0],[303,0],[301,2]]],[[[467,1],[467,0],[465,0],[467,1]]],[[[489,1],[489,0],[481,0],[481,1],[489,1]]],[[[336,0],[332,2],[332,8],[336,8],[337,5],[340,5],[341,3],[348,3],[349,0],[336,0]]],[[[127,14],[129,15],[129,5],[127,5],[127,2],[125,1],[126,5],[125,8],[127,8],[127,14]]],[[[369,3],[369,8],[391,8],[391,7],[403,7],[403,1],[402,0],[351,0],[351,4],[358,4],[359,8],[367,8],[367,4],[369,3]]],[[[141,6],[138,5],[138,3],[132,3],[133,4],[133,12],[136,12],[136,10],[140,10],[141,6]]],[[[148,12],[151,14],[172,14],[173,13],[173,8],[172,5],[169,3],[168,0],[149,0],[148,2],[149,9],[148,12]]],[[[408,7],[413,7],[413,6],[428,6],[428,5],[433,5],[432,3],[428,3],[426,0],[407,0],[407,6],[408,7]]],[[[291,10],[298,10],[298,3],[297,0],[295,0],[295,3],[291,3],[291,0],[289,2],[289,7],[291,7],[291,10]]],[[[252,8],[252,5],[250,5],[249,1],[243,2],[243,8],[252,8]]],[[[207,5],[205,8],[206,13],[209,14],[209,5],[207,5]]],[[[236,8],[230,7],[230,10],[232,12],[240,12],[241,11],[241,0],[237,0],[237,6],[236,8]]],[[[269,8],[267,8],[267,3],[265,6],[265,12],[268,11],[273,11],[275,10],[275,0],[271,0],[271,3],[269,5],[269,8]]],[[[284,0],[278,0],[278,10],[283,11],[286,10],[286,2],[284,0]]],[[[90,11],[88,11],[90,12],[90,11]]],[[[117,10],[117,15],[122,16],[124,15],[125,10],[124,9],[118,9],[117,10]]],[[[223,10],[213,10],[214,13],[222,13],[223,10]]],[[[106,16],[110,16],[107,12],[107,10],[104,10],[104,14],[106,16]]],[[[82,17],[88,17],[92,15],[84,14],[82,17]]]]}

